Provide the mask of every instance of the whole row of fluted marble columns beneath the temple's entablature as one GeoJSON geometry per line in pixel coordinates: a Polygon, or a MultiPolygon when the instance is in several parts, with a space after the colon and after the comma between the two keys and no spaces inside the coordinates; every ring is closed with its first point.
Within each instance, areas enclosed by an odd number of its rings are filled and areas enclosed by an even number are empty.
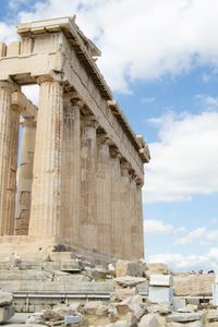
{"type": "Polygon", "coordinates": [[[39,80],[37,128],[0,84],[0,233],[59,237],[117,257],[143,256],[142,185],[83,104],[59,82],[39,80]],[[14,226],[15,216],[15,226],[14,226]]]}

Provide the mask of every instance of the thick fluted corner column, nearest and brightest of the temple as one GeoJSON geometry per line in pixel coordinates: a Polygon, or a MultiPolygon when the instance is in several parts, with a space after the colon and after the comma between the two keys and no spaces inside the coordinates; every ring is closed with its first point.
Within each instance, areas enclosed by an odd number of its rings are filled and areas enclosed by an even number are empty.
{"type": "Polygon", "coordinates": [[[39,84],[29,235],[56,237],[61,214],[63,86],[57,81],[39,84]]]}

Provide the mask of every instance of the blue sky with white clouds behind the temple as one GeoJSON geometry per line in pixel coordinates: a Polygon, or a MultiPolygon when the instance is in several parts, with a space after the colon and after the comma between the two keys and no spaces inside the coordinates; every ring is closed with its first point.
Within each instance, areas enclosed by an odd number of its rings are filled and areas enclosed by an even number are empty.
{"type": "Polygon", "coordinates": [[[145,261],[180,271],[218,268],[217,12],[217,0],[0,0],[2,41],[19,22],[76,14],[100,48],[97,64],[152,154],[145,261]]]}

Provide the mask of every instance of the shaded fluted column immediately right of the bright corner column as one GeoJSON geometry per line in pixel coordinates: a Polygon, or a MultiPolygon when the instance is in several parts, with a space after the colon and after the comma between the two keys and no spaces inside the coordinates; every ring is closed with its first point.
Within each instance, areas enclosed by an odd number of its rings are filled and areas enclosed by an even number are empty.
{"type": "Polygon", "coordinates": [[[62,214],[61,233],[65,243],[80,243],[81,207],[81,108],[83,102],[64,95],[62,154],[62,214]]]}

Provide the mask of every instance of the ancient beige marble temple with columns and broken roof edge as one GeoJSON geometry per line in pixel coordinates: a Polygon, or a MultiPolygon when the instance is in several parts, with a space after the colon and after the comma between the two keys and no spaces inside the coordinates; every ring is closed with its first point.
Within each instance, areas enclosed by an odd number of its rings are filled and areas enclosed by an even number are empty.
{"type": "Polygon", "coordinates": [[[95,63],[100,51],[75,17],[21,24],[17,34],[0,44],[0,255],[62,244],[142,257],[149,150],[95,63]],[[33,84],[38,108],[21,88],[33,84]]]}

